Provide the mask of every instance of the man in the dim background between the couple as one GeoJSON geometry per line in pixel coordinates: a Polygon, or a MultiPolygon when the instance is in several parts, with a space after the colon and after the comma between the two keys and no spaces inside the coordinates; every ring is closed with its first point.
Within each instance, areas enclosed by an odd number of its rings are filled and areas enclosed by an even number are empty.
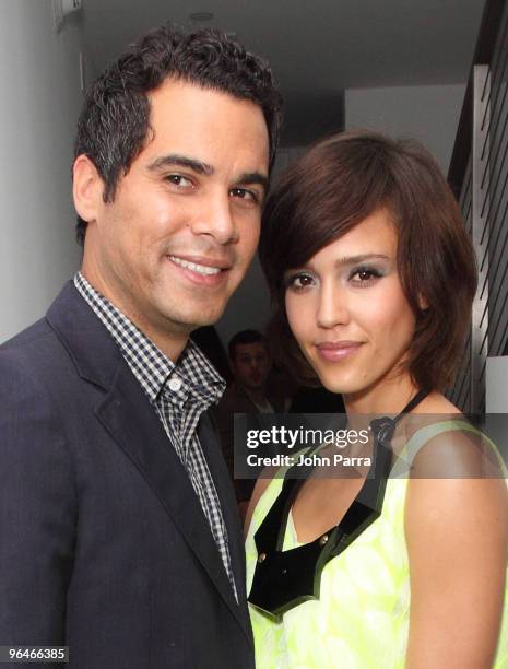
{"type": "Polygon", "coordinates": [[[245,517],[255,481],[234,477],[233,416],[235,413],[280,413],[285,410],[285,398],[267,385],[272,362],[260,332],[241,330],[231,339],[227,349],[234,380],[218,403],[217,423],[224,458],[234,479],[240,514],[245,517]]]}

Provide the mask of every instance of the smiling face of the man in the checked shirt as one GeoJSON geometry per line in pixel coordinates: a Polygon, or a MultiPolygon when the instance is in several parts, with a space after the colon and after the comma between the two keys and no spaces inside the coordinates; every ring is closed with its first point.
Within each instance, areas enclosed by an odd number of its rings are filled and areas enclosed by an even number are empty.
{"type": "Polygon", "coordinates": [[[145,146],[88,219],[83,271],[157,339],[217,320],[244,278],[269,139],[260,107],[223,92],[167,80],[150,102],[145,146]]]}

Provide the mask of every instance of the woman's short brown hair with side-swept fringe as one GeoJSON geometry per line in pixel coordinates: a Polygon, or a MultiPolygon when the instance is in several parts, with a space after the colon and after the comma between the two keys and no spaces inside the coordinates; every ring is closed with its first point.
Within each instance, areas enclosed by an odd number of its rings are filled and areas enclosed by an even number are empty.
{"type": "Polygon", "coordinates": [[[381,208],[397,227],[398,271],[416,318],[410,374],[422,389],[445,390],[471,319],[477,282],[473,247],[430,154],[417,142],[374,132],[343,132],[317,143],[267,200],[259,256],[272,296],[273,355],[299,380],[315,378],[290,330],[284,273],[381,208]]]}

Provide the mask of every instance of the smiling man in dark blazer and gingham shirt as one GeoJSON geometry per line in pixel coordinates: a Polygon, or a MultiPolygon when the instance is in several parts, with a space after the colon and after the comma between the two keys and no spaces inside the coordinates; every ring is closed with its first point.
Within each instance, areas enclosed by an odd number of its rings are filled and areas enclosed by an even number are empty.
{"type": "MultiPolygon", "coordinates": [[[[0,644],[70,667],[252,667],[241,532],[189,342],[258,242],[276,143],[267,66],[164,26],[79,121],[81,272],[0,348],[0,644]]],[[[46,665],[45,665],[46,666],[46,665]]]]}

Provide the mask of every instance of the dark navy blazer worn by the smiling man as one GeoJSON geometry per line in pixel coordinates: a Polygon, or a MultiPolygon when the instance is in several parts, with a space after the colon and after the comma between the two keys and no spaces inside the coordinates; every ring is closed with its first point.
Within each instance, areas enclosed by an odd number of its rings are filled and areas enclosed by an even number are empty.
{"type": "Polygon", "coordinates": [[[68,645],[72,669],[253,667],[241,529],[208,415],[199,436],[239,606],[160,419],[73,284],[0,347],[0,645],[68,645]]]}

